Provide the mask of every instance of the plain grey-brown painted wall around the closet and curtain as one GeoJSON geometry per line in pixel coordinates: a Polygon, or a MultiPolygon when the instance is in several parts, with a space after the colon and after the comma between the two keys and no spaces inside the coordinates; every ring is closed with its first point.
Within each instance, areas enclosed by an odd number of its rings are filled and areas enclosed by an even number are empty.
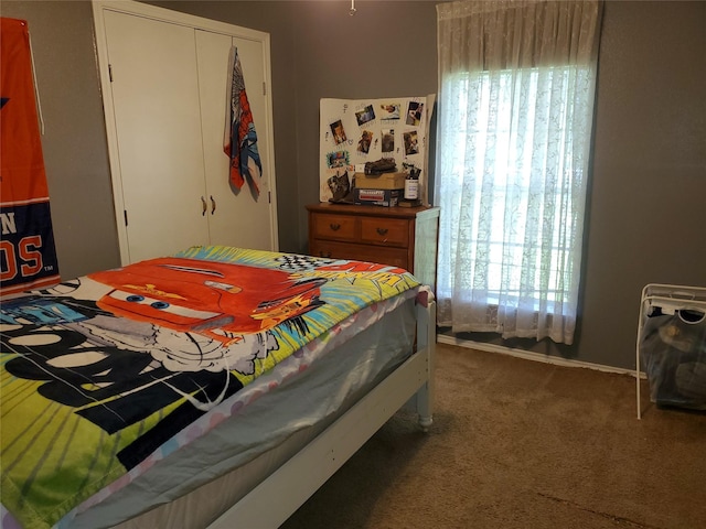
{"type": "MultiPolygon", "coordinates": [[[[149,3],[270,33],[284,251],[307,250],[319,99],[437,91],[436,2],[359,0],[355,17],[346,0],[149,3]]],[[[62,276],[118,266],[90,4],[1,9],[30,25],[62,276]]],[[[631,368],[642,287],[706,285],[705,28],[706,2],[607,2],[577,339],[505,345],[631,368]]]]}

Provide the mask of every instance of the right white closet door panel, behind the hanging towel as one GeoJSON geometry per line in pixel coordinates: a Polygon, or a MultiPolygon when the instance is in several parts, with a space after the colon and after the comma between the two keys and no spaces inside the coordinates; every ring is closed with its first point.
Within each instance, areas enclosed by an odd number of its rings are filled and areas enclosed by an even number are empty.
{"type": "Polygon", "coordinates": [[[265,51],[261,41],[196,31],[199,87],[203,127],[204,165],[208,194],[211,244],[274,250],[272,207],[269,201],[271,168],[269,162],[268,99],[265,86],[265,51]],[[240,190],[231,185],[228,156],[223,151],[226,111],[226,84],[231,45],[238,48],[245,89],[258,132],[263,162],[259,196],[246,183],[240,190]],[[215,206],[215,210],[214,210],[215,206]]]}

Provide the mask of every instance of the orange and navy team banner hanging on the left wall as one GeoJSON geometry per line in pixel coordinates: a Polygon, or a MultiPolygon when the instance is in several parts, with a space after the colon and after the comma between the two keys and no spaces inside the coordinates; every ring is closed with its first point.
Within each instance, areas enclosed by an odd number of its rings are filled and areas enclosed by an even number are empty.
{"type": "Polygon", "coordinates": [[[0,294],[57,283],[26,21],[0,19],[0,294]]]}

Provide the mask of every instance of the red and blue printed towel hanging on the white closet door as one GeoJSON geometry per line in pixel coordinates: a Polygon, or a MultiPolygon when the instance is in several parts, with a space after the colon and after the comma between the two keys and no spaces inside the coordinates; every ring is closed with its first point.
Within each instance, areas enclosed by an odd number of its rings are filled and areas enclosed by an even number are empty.
{"type": "Polygon", "coordinates": [[[243,66],[237,47],[231,47],[228,56],[228,88],[226,126],[223,150],[231,159],[231,182],[238,190],[248,181],[253,194],[260,193],[263,164],[257,150],[257,133],[250,104],[245,93],[243,66]]]}

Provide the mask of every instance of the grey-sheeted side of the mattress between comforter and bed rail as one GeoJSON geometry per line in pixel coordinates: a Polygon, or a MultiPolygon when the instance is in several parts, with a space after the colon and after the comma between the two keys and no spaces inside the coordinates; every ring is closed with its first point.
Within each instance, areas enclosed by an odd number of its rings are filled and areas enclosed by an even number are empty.
{"type": "Polygon", "coordinates": [[[411,352],[414,333],[414,300],[407,299],[325,355],[304,377],[269,392],[252,406],[249,413],[223,424],[218,438],[237,435],[255,441],[250,445],[255,450],[247,455],[239,453],[205,466],[208,464],[203,462],[203,454],[217,452],[220,443],[208,435],[202,443],[192,443],[189,453],[164,461],[163,468],[154,468],[158,473],[146,474],[60,527],[206,527],[402,364],[411,352]],[[276,413],[266,414],[267,421],[263,421],[264,409],[276,413]],[[261,441],[268,438],[269,447],[264,450],[261,441]],[[185,475],[191,478],[184,481],[185,475]],[[152,508],[154,501],[169,503],[152,508]],[[146,512],[137,516],[141,510],[146,512]],[[126,517],[130,519],[121,522],[126,517]]]}

